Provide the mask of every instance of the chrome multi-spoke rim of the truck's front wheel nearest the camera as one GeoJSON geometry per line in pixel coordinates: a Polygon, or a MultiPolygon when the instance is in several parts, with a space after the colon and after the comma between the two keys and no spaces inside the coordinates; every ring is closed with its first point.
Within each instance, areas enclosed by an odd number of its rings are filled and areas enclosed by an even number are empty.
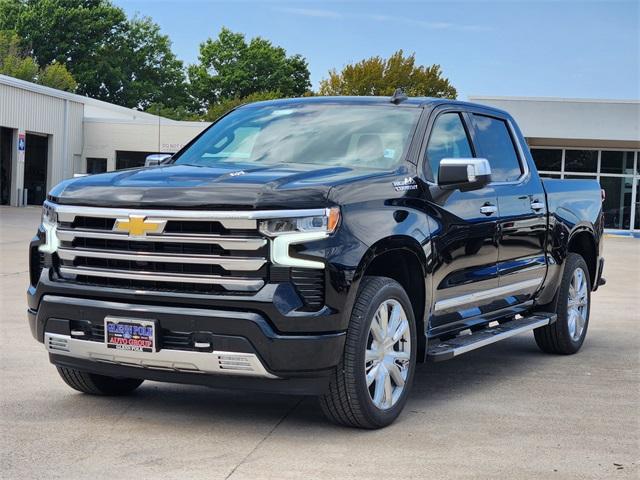
{"type": "Polygon", "coordinates": [[[364,367],[373,404],[387,410],[404,390],[411,360],[411,330],[402,305],[385,300],[369,327],[364,367]]]}

